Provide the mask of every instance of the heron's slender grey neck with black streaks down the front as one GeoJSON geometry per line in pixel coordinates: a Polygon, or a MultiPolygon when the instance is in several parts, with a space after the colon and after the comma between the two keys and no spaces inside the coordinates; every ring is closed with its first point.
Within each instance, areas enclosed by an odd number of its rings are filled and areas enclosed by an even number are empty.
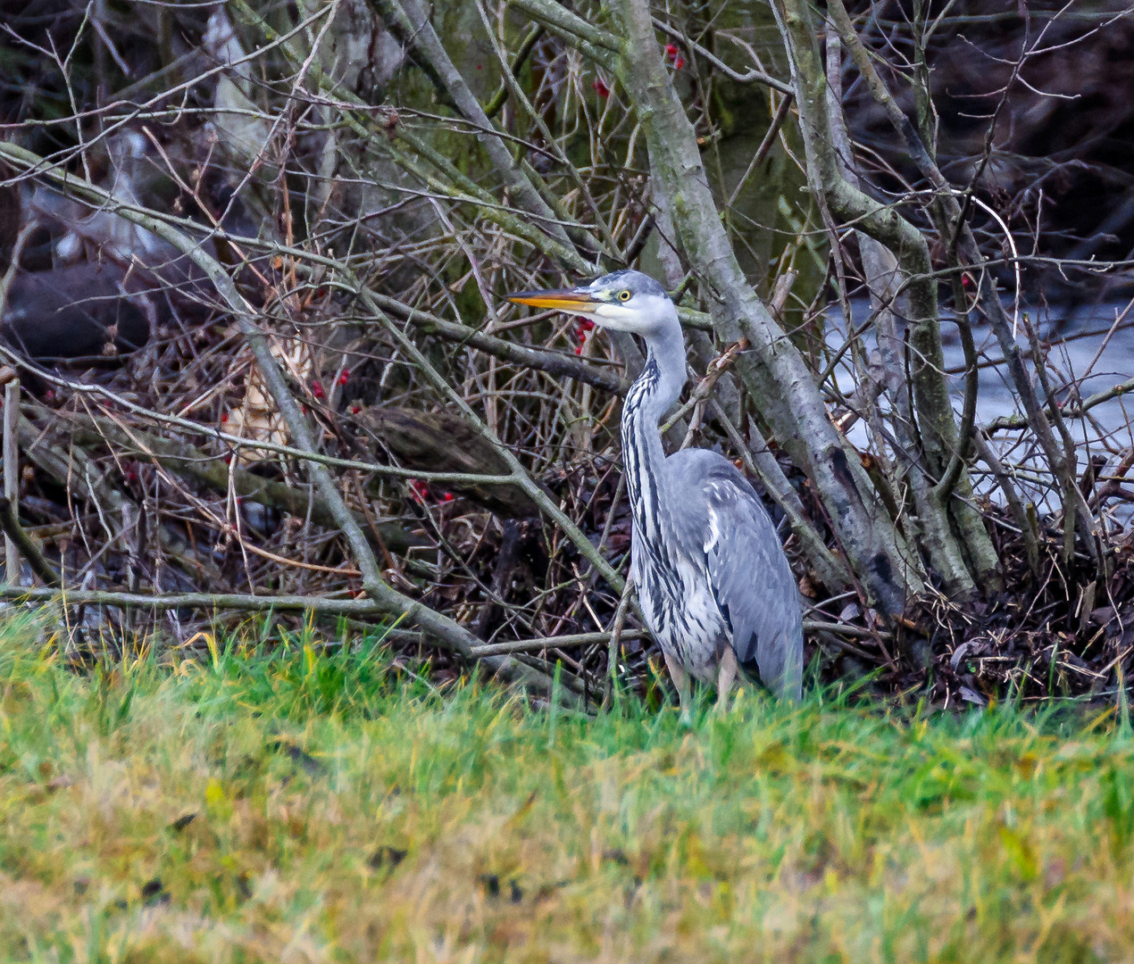
{"type": "Polygon", "coordinates": [[[658,422],[685,384],[685,340],[677,319],[645,336],[645,367],[623,405],[623,459],[635,525],[652,542],[657,536],[657,499],[665,487],[660,470],[666,454],[658,422]]]}

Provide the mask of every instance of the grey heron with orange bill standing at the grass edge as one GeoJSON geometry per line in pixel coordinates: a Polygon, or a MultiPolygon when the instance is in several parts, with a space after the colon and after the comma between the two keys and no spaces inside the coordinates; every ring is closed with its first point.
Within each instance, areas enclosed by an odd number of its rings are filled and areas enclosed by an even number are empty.
{"type": "Polygon", "coordinates": [[[621,418],[631,573],[680,695],[682,719],[689,718],[691,676],[717,686],[720,707],[738,669],[798,700],[799,595],[760,497],[718,453],[662,450],[658,422],[686,380],[677,307],[665,288],[641,271],[617,271],[577,288],[506,297],[585,315],[645,343],[645,367],[626,392],[621,418]]]}

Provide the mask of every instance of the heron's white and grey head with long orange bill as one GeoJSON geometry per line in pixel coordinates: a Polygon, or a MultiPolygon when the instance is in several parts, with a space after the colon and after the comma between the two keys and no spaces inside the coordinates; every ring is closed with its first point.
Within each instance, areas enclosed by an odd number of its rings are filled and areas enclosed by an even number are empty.
{"type": "Polygon", "coordinates": [[[649,335],[677,321],[677,308],[666,289],[641,271],[616,271],[578,288],[517,291],[505,297],[517,305],[582,314],[600,328],[634,335],[649,335]]]}

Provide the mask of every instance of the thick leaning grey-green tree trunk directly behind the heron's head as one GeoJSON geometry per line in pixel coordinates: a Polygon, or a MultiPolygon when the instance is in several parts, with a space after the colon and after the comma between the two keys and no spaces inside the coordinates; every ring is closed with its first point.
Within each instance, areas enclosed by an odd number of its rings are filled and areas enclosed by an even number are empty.
{"type": "Polygon", "coordinates": [[[814,483],[836,536],[872,603],[899,615],[923,589],[917,555],[896,530],[870,479],[828,417],[803,356],[737,263],[712,200],[696,135],[666,71],[645,0],[615,9],[627,37],[618,60],[650,152],[650,170],[671,202],[685,256],[702,280],[719,338],[748,339],[737,371],[777,441],[814,483]]]}

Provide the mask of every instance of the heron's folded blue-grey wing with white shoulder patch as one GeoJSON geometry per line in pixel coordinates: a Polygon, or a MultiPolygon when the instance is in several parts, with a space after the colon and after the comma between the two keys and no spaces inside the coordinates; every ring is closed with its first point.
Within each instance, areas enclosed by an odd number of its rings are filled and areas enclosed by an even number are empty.
{"type": "Polygon", "coordinates": [[[713,453],[691,463],[685,474],[699,476],[705,506],[700,548],[717,604],[733,632],[737,661],[750,671],[755,663],[769,690],[798,700],[803,677],[799,591],[776,527],[755,490],[731,463],[713,453]]]}

